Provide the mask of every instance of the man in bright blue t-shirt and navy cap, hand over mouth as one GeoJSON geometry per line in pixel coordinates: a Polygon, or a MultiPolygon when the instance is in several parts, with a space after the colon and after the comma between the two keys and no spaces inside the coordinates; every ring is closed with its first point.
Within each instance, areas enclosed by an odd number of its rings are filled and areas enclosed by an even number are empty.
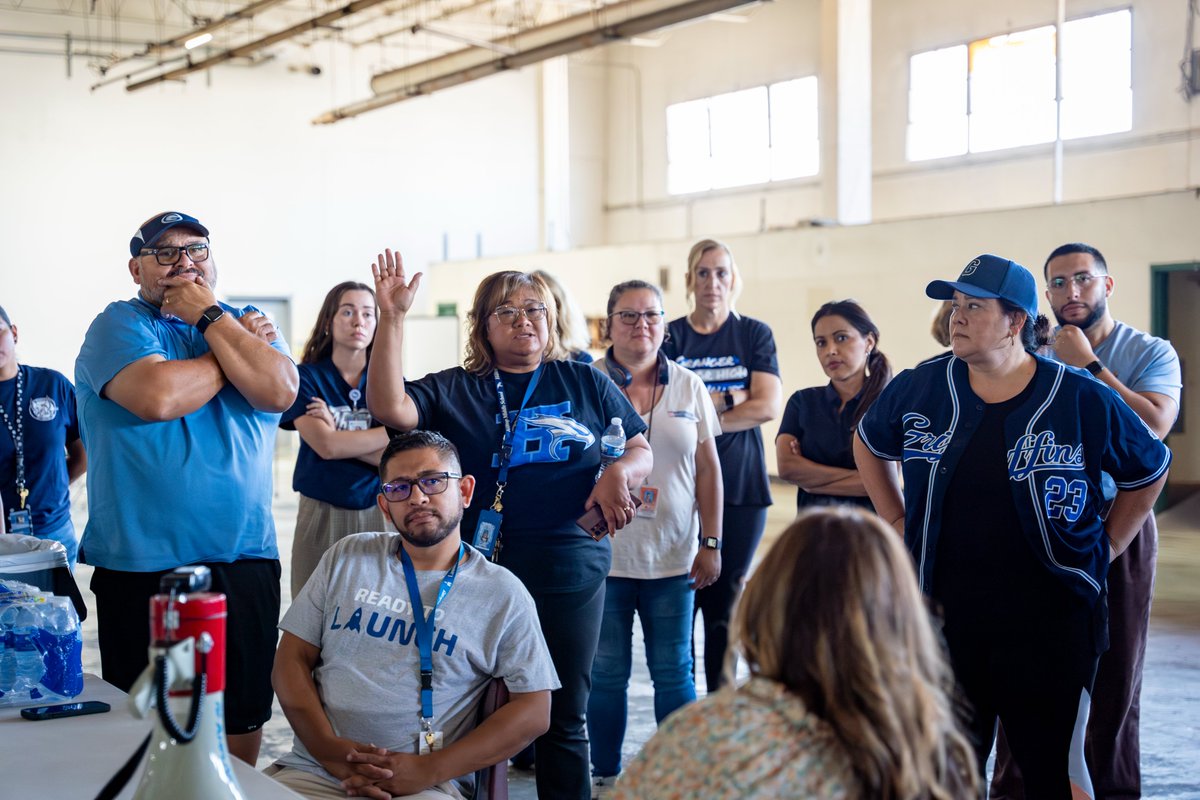
{"type": "Polygon", "coordinates": [[[91,461],[79,547],[96,567],[101,667],[128,690],[146,664],[148,599],[160,576],[210,567],[229,603],[229,750],[253,764],[271,716],[280,613],[271,458],[296,367],[269,318],[217,302],[198,219],[151,217],[130,255],[137,296],[109,303],[76,361],[91,461]]]}

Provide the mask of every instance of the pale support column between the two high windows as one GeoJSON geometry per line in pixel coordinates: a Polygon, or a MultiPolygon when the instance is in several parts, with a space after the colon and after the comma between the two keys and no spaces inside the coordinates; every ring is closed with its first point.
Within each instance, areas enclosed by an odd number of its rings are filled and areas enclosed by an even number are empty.
{"type": "Polygon", "coordinates": [[[821,4],[821,186],[824,216],[871,221],[871,0],[821,4]]]}

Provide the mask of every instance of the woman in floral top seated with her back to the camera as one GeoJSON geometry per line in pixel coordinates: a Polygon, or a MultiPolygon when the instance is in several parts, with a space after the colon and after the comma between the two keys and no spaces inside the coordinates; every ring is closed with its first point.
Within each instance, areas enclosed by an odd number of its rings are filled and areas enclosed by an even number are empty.
{"type": "Polygon", "coordinates": [[[875,515],[800,515],[746,584],[730,649],[750,680],[667,718],[611,798],[979,795],[912,565],[875,515]]]}

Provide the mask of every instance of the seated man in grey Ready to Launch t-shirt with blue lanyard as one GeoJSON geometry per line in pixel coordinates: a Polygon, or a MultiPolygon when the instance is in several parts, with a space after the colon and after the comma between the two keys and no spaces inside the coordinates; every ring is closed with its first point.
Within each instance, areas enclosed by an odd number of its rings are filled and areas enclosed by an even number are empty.
{"type": "Polygon", "coordinates": [[[559,681],[529,593],[462,542],[475,479],[455,446],[400,434],[379,476],[400,533],[334,545],[280,622],[295,739],[266,774],[306,798],[469,798],[475,770],[546,732],[559,681]],[[493,678],[510,700],[476,727],[493,678]]]}

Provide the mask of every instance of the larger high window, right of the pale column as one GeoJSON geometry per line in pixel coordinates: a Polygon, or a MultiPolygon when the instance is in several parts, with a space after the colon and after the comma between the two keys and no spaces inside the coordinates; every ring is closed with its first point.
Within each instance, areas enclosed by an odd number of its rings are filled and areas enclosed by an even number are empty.
{"type": "MultiPolygon", "coordinates": [[[[918,53],[910,60],[910,161],[1054,142],[1054,25],[918,53]]],[[[1062,138],[1133,127],[1128,8],[1062,31],[1062,138]]]]}

